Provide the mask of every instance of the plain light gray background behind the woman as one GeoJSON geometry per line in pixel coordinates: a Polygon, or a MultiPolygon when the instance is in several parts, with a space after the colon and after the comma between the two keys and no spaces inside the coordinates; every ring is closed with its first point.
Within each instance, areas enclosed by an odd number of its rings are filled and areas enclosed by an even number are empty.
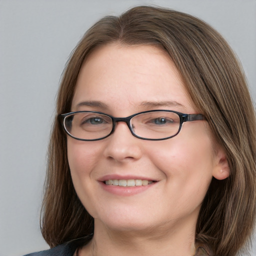
{"type": "MultiPolygon", "coordinates": [[[[256,99],[256,0],[0,0],[0,255],[46,249],[39,229],[45,154],[59,77],[101,16],[156,4],[215,27],[256,99]]],[[[256,245],[251,255],[256,255],[256,245]]]]}

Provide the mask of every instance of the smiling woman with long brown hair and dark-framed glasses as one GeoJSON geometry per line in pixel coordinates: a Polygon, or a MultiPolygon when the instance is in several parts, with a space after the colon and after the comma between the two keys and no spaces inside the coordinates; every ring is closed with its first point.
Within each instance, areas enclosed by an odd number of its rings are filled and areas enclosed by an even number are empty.
{"type": "MultiPolygon", "coordinates": [[[[63,73],[38,255],[235,255],[255,216],[255,113],[224,39],[134,7],[63,73]]],[[[37,255],[32,254],[32,255],[37,255]]]]}

